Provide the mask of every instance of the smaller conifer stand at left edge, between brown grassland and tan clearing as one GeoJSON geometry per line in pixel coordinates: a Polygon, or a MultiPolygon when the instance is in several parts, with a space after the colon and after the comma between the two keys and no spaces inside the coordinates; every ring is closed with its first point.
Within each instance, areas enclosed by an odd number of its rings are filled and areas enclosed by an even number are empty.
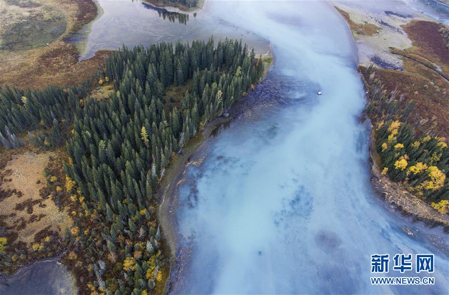
{"type": "Polygon", "coordinates": [[[30,140],[41,148],[62,144],[75,114],[82,111],[80,102],[91,89],[89,82],[43,90],[0,87],[0,143],[5,148],[18,148],[24,142],[18,134],[28,132],[30,140]]]}

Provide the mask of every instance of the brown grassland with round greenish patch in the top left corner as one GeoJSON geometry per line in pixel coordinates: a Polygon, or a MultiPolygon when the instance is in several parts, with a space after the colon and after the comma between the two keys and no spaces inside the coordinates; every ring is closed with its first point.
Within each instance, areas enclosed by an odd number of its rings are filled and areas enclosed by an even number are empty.
{"type": "Polygon", "coordinates": [[[77,84],[90,79],[109,54],[100,51],[78,62],[77,48],[65,41],[95,18],[93,0],[0,0],[0,7],[0,86],[77,84]]]}

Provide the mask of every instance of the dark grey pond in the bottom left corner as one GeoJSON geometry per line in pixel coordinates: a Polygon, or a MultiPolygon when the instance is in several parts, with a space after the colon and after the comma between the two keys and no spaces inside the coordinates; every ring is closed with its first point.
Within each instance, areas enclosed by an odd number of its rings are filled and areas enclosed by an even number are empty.
{"type": "Polygon", "coordinates": [[[5,278],[1,295],[75,295],[75,281],[56,260],[39,261],[5,278]]]}

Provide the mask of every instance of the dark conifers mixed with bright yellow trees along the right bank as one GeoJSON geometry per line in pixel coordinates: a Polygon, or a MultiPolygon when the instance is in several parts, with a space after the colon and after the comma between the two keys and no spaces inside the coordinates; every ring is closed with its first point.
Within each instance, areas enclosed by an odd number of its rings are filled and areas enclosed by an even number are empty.
{"type": "Polygon", "coordinates": [[[432,130],[419,130],[410,115],[413,100],[397,91],[387,92],[374,67],[366,70],[369,104],[366,109],[375,129],[375,148],[382,174],[403,183],[409,191],[427,201],[447,203],[449,199],[449,148],[446,139],[432,130]]]}

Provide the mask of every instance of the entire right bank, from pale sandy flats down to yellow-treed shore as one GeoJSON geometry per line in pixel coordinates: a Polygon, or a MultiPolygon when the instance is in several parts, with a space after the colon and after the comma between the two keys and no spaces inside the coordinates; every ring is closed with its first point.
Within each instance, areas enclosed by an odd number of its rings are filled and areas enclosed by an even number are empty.
{"type": "Polygon", "coordinates": [[[367,90],[374,187],[394,207],[448,226],[449,28],[422,16],[338,6],[367,90]]]}

